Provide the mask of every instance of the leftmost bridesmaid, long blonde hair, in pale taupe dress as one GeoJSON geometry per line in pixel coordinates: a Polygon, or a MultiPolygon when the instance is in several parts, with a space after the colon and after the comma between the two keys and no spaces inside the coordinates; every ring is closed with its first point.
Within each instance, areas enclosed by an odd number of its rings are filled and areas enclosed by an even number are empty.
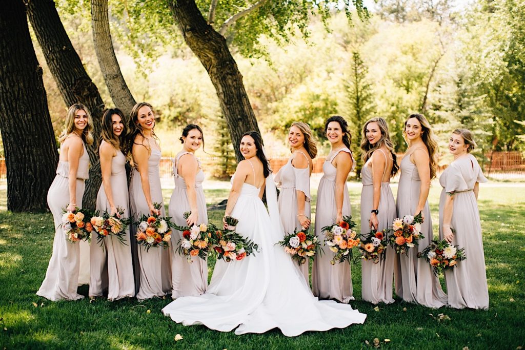
{"type": "Polygon", "coordinates": [[[62,210],[82,208],[84,181],[89,173],[89,156],[86,144],[93,143],[93,121],[85,105],[76,103],[66,114],[64,133],[59,138],[60,159],[57,176],[49,187],[47,204],[55,221],[53,254],[49,260],[46,278],[37,295],[49,300],[77,300],[80,269],[80,242],[66,240],[62,228],[62,210]]]}

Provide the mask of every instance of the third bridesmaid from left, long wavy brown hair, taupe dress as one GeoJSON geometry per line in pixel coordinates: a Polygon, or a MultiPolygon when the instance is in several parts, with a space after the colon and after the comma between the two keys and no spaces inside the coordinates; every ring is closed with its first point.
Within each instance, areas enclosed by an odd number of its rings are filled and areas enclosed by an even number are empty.
{"type": "MultiPolygon", "coordinates": [[[[129,189],[131,215],[135,220],[142,214],[166,216],[159,170],[161,150],[153,132],[155,115],[151,105],[146,102],[135,104],[128,125],[127,152],[134,164],[129,189]],[[161,209],[155,209],[153,203],[160,203],[161,209]]],[[[134,229],[131,237],[132,253],[136,257],[133,259],[135,291],[139,287],[137,299],[162,298],[171,290],[169,249],[155,247],[146,251],[144,246],[137,244],[134,229]]]]}

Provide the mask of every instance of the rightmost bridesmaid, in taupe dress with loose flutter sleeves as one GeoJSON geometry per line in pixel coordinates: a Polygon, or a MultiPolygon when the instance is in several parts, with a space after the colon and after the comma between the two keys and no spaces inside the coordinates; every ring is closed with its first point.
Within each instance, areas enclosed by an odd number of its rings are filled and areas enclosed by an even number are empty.
{"type": "Polygon", "coordinates": [[[456,129],[450,137],[448,149],[454,161],[439,177],[443,187],[439,199],[439,237],[465,248],[467,255],[454,269],[445,271],[448,305],[455,309],[487,310],[489,293],[477,203],[479,183],[487,179],[476,158],[469,154],[475,146],[469,130],[456,129]]]}

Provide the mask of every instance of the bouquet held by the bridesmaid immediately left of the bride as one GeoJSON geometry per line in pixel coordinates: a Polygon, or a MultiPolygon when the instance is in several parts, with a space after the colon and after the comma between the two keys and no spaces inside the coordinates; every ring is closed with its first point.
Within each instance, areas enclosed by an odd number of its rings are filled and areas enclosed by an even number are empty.
{"type": "MultiPolygon", "coordinates": [[[[191,212],[183,214],[184,219],[190,216],[191,212]]],[[[182,231],[182,239],[178,240],[177,252],[187,257],[188,263],[192,263],[192,257],[199,257],[206,260],[211,249],[212,241],[217,240],[217,228],[213,224],[201,224],[189,226],[174,225],[176,230],[182,231]]]]}

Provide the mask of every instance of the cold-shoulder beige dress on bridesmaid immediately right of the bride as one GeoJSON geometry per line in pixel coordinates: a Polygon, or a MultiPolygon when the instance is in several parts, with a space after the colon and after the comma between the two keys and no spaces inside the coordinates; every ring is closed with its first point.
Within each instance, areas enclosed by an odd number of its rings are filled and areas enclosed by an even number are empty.
{"type": "MultiPolygon", "coordinates": [[[[304,153],[297,152],[306,157],[304,153]]],[[[306,157],[308,159],[308,157],[306,157]]],[[[296,168],[292,165],[293,156],[288,159],[288,162],[279,169],[275,176],[275,181],[280,183],[279,193],[279,214],[281,216],[282,227],[286,234],[293,234],[294,230],[302,230],[302,226],[297,217],[297,191],[304,193],[306,201],[304,201],[304,214],[311,218],[310,210],[310,167],[296,168]]],[[[306,262],[299,266],[304,279],[310,284],[310,275],[308,271],[309,258],[306,262]]]]}

